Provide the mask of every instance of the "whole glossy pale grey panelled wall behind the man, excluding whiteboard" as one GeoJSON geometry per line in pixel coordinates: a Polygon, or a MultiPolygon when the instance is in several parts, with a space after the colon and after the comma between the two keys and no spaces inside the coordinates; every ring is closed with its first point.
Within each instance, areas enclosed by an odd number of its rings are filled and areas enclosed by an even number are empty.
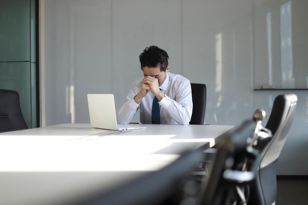
{"type": "MultiPolygon", "coordinates": [[[[207,85],[205,123],[237,125],[257,108],[270,114],[280,92],[253,91],[254,18],[253,0],[45,0],[46,125],[89,123],[88,93],[113,93],[118,108],[150,45],[168,52],[170,72],[207,85]]],[[[306,93],[295,92],[280,175],[308,174],[308,154],[295,151],[307,144],[306,93]]]]}

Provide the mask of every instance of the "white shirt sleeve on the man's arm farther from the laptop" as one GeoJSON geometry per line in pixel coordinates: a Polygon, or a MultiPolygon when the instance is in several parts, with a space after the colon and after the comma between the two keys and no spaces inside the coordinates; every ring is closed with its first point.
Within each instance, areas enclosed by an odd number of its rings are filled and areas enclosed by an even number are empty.
{"type": "Polygon", "coordinates": [[[166,109],[172,119],[179,124],[188,125],[193,113],[192,90],[189,80],[186,79],[182,82],[176,93],[176,100],[172,100],[165,94],[159,104],[166,109]]]}

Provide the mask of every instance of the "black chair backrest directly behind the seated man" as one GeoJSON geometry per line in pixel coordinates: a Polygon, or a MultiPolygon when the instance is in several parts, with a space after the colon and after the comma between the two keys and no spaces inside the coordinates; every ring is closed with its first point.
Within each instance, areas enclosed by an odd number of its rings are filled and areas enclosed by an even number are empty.
{"type": "Polygon", "coordinates": [[[193,114],[189,124],[203,125],[206,108],[206,85],[190,83],[192,87],[193,114]]]}

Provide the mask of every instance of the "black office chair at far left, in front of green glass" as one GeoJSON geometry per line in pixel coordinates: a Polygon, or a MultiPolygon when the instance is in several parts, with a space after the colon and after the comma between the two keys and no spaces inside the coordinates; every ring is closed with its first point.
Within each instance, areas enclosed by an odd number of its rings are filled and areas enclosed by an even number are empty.
{"type": "Polygon", "coordinates": [[[0,132],[24,129],[28,127],[21,113],[18,92],[0,89],[0,132]]]}

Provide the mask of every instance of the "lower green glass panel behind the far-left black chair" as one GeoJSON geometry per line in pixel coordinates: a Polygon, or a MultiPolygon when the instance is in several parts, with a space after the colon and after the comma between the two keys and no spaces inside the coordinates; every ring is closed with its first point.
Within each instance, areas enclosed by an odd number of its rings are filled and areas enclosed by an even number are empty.
{"type": "Polygon", "coordinates": [[[19,93],[20,107],[31,127],[30,62],[0,63],[0,88],[19,93]]]}

